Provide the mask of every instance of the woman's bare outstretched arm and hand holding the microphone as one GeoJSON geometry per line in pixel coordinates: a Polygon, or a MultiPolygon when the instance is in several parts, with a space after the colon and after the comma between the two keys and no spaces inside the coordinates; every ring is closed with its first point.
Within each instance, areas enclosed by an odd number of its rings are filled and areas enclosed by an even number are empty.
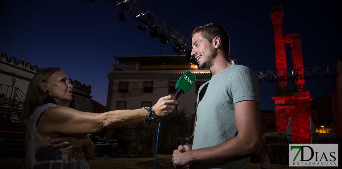
{"type": "MultiPolygon", "coordinates": [[[[173,96],[160,98],[152,107],[155,111],[155,118],[163,117],[172,112],[172,109],[170,109],[171,104],[177,104],[177,100],[173,96]]],[[[50,137],[54,133],[84,135],[97,133],[109,128],[132,125],[143,122],[146,119],[147,111],[145,109],[116,110],[96,114],[57,106],[51,107],[48,111],[44,112],[41,122],[37,126],[37,132],[43,138],[50,137]]]]}

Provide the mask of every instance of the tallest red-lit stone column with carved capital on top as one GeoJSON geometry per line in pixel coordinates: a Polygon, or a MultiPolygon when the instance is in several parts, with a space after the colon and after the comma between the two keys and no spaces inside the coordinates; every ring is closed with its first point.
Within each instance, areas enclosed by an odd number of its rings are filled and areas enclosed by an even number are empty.
{"type": "MultiPolygon", "coordinates": [[[[273,28],[274,28],[274,45],[276,50],[276,68],[277,70],[286,70],[286,54],[285,54],[285,44],[284,44],[284,37],[282,33],[282,18],[284,17],[284,13],[281,10],[281,4],[274,4],[272,5],[272,12],[270,13],[273,28]]],[[[290,89],[288,87],[286,77],[286,71],[282,73],[282,71],[277,71],[278,76],[285,76],[282,77],[285,79],[281,81],[278,79],[278,88],[275,93],[275,96],[288,96],[290,93],[290,89]]]]}

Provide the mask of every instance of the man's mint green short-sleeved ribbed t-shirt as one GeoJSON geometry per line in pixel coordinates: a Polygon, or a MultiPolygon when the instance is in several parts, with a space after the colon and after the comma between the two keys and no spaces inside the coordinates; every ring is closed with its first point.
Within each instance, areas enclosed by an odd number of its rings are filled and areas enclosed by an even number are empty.
{"type": "MultiPolygon", "coordinates": [[[[234,104],[259,102],[259,85],[246,66],[233,64],[203,84],[197,97],[197,120],[192,150],[221,144],[237,135],[234,104]]],[[[248,125],[248,124],[246,124],[248,125]]],[[[193,164],[191,168],[248,168],[250,158],[230,163],[193,164]]]]}

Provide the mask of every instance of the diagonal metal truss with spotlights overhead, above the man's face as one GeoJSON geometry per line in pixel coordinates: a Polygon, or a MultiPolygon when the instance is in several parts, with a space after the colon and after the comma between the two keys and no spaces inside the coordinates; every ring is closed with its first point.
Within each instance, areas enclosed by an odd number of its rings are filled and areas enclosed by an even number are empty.
{"type": "Polygon", "coordinates": [[[146,5],[139,0],[108,0],[118,6],[124,14],[131,15],[139,21],[139,26],[150,28],[155,34],[165,34],[168,41],[174,44],[181,51],[191,51],[192,41],[185,37],[176,28],[170,25],[166,20],[161,18],[155,12],[150,10],[146,5]]]}

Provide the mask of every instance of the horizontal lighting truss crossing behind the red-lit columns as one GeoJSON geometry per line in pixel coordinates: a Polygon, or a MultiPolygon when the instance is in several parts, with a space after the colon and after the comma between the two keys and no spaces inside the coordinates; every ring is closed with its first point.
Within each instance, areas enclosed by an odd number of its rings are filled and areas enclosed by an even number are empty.
{"type": "Polygon", "coordinates": [[[280,79],[284,79],[284,78],[310,79],[310,76],[315,76],[315,75],[324,75],[327,77],[328,74],[337,75],[338,73],[342,73],[342,64],[303,67],[303,68],[297,69],[297,73],[294,73],[294,72],[295,72],[294,69],[279,69],[279,70],[255,71],[254,75],[255,75],[255,78],[257,78],[257,80],[259,81],[260,80],[265,81],[266,79],[278,79],[278,78],[280,79]],[[304,74],[298,74],[300,70],[304,70],[304,74]]]}

